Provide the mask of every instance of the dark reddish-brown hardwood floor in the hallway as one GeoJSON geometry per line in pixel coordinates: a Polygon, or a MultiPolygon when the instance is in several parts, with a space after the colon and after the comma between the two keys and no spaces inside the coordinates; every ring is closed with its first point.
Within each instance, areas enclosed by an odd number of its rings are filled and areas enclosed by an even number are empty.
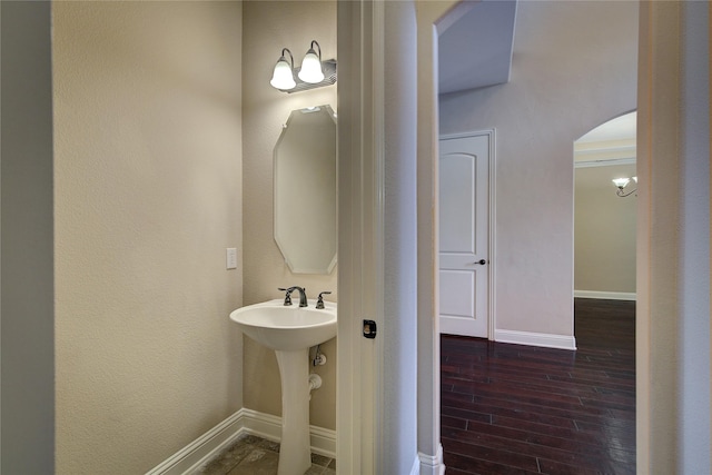
{"type": "Polygon", "coordinates": [[[575,352],[442,336],[447,475],[635,474],[635,304],[574,307],[575,352]]]}

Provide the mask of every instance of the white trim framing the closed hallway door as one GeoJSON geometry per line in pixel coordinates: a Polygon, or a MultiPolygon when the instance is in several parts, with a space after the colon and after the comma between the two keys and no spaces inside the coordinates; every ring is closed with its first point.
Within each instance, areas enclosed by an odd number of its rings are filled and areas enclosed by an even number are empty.
{"type": "MultiPolygon", "coordinates": [[[[495,295],[496,295],[496,133],[495,128],[492,129],[483,129],[483,130],[473,130],[468,132],[458,132],[458,133],[444,133],[439,136],[439,140],[448,140],[448,139],[462,139],[468,137],[487,137],[487,154],[490,154],[490,159],[487,162],[487,186],[490,187],[487,190],[487,256],[490,257],[490,263],[487,266],[487,339],[494,340],[495,328],[496,326],[496,313],[495,313],[495,295]]],[[[439,197],[439,194],[436,195],[439,197]]],[[[439,199],[439,198],[438,198],[439,199]]],[[[438,281],[439,285],[439,281],[438,281]]],[[[439,290],[439,289],[438,289],[439,290]]],[[[439,315],[439,314],[438,314],[439,315]]]]}

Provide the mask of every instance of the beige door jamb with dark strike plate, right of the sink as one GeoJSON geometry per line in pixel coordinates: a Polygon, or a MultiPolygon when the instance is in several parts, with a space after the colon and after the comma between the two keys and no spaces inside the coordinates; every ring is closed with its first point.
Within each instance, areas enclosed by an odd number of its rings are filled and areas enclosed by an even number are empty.
{"type": "Polygon", "coordinates": [[[382,473],[384,14],[383,2],[339,1],[337,473],[382,473]]]}

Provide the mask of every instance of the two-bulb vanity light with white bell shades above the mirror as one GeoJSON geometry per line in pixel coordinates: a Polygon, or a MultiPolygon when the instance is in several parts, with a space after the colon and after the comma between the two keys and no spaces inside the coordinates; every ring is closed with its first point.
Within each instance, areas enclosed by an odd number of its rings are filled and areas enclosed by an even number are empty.
{"type": "Polygon", "coordinates": [[[275,66],[269,83],[283,92],[298,92],[330,86],[336,82],[336,60],[322,60],[322,47],[316,40],[309,44],[309,50],[301,61],[300,68],[294,67],[294,57],[287,48],[281,50],[281,57],[275,66]],[[315,50],[316,47],[316,50],[315,50]],[[285,58],[289,53],[291,65],[285,58]],[[317,53],[318,51],[318,53],[317,53]],[[295,75],[297,72],[297,75],[295,75]],[[296,76],[296,78],[295,78],[296,76]]]}

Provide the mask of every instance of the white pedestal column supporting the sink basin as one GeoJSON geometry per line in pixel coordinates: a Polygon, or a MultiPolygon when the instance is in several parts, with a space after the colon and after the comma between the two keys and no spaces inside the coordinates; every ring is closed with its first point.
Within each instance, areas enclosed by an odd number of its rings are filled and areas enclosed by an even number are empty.
{"type": "Polygon", "coordinates": [[[281,382],[278,475],[304,475],[312,466],[308,352],[308,348],[294,352],[275,350],[281,382]]]}

